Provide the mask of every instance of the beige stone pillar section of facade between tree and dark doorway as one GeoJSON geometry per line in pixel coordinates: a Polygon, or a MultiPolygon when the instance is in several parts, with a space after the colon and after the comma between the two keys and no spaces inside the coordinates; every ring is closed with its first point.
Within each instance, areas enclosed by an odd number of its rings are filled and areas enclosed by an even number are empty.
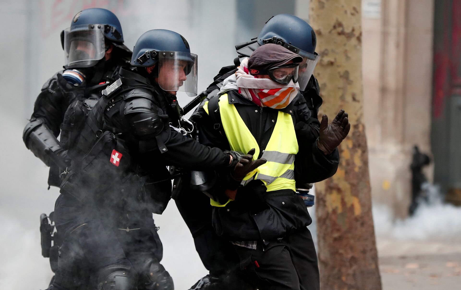
{"type": "Polygon", "coordinates": [[[364,0],[363,83],[373,201],[405,217],[411,153],[430,151],[433,0],[364,0]]]}

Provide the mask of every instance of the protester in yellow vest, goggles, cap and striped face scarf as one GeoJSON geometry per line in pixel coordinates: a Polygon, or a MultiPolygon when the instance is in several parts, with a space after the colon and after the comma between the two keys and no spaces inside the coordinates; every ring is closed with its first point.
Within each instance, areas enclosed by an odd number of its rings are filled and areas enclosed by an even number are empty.
{"type": "Polygon", "coordinates": [[[246,175],[221,175],[211,199],[214,229],[234,245],[259,290],[319,289],[312,220],[296,195],[295,172],[303,182],[334,175],[336,147],[350,129],[343,110],[330,125],[324,115],[319,139],[306,142],[307,124],[296,120],[291,103],[301,61],[280,45],[260,46],[198,111],[202,144],[267,161],[246,175]]]}

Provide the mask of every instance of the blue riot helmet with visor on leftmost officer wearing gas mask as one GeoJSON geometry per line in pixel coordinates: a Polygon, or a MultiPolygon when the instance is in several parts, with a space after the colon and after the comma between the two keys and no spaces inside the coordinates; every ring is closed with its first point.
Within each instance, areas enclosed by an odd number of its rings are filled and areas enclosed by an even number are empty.
{"type": "Polygon", "coordinates": [[[78,12],[71,26],[61,32],[65,68],[95,66],[109,48],[107,42],[131,53],[123,44],[122,27],[114,13],[102,8],[78,12]]]}

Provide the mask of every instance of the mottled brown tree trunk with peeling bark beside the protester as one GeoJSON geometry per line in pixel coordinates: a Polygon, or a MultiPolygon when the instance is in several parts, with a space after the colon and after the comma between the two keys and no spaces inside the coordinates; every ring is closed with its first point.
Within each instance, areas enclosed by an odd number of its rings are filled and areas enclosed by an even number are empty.
{"type": "Polygon", "coordinates": [[[349,113],[341,163],[316,184],[320,284],[325,290],[380,290],[370,176],[363,124],[361,0],[311,0],[309,19],[320,60],[314,71],[324,98],[320,114],[349,113]]]}

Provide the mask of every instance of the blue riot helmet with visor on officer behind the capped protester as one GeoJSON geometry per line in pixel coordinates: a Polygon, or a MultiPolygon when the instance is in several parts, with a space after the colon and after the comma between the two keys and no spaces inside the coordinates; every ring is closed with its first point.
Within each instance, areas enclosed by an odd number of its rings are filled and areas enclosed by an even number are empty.
{"type": "Polygon", "coordinates": [[[249,57],[256,48],[266,43],[281,45],[303,57],[298,83],[300,90],[304,91],[319,60],[319,54],[315,52],[317,38],[312,27],[294,15],[278,14],[266,22],[257,38],[236,45],[236,50],[241,56],[249,57]]]}

